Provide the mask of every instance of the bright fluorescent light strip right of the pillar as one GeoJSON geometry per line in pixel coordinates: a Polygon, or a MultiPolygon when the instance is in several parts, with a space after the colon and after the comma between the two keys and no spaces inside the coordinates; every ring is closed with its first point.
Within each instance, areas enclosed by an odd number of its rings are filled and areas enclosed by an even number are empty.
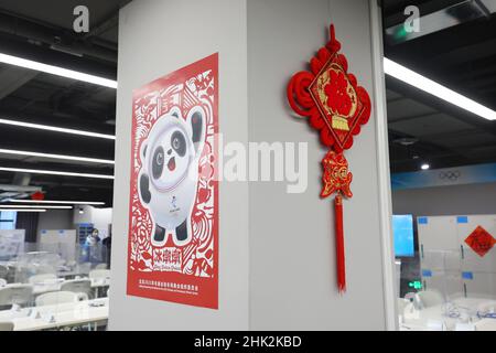
{"type": "Polygon", "coordinates": [[[429,79],[410,68],[407,68],[389,58],[384,58],[384,71],[386,74],[396,77],[411,86],[422,89],[438,98],[451,103],[462,109],[471,111],[487,120],[496,120],[496,111],[478,104],[461,94],[446,88],[432,79],[429,79]]]}

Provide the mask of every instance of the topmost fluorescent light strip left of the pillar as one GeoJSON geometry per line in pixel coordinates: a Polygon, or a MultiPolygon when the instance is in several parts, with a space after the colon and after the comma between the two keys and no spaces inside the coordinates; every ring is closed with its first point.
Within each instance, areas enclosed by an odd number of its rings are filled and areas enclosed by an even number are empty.
{"type": "Polygon", "coordinates": [[[47,64],[34,62],[34,61],[18,57],[18,56],[12,56],[12,55],[0,53],[0,62],[9,64],[9,65],[15,65],[15,66],[29,68],[29,69],[41,71],[46,74],[73,78],[73,79],[77,79],[77,81],[84,81],[84,82],[99,85],[99,86],[117,88],[117,81],[114,81],[114,79],[103,78],[103,77],[98,77],[98,76],[89,75],[89,74],[84,74],[84,73],[80,73],[77,71],[62,68],[62,67],[53,66],[53,65],[47,65],[47,64]]]}

